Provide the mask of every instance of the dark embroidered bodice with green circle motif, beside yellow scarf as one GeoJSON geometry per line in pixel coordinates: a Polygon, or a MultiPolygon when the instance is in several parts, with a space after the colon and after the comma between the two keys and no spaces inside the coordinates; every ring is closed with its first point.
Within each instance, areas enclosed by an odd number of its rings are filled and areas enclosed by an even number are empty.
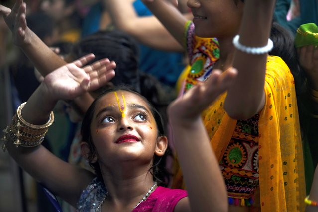
{"type": "Polygon", "coordinates": [[[228,197],[244,199],[246,205],[251,204],[250,198],[259,186],[258,119],[257,114],[248,120],[237,120],[233,136],[220,162],[228,197]]]}

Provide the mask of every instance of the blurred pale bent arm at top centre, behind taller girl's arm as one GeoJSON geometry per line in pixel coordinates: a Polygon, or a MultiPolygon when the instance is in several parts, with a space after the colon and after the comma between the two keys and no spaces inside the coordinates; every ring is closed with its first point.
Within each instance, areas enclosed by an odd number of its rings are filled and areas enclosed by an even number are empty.
{"type": "Polygon", "coordinates": [[[139,42],[166,51],[184,50],[155,16],[139,17],[133,1],[103,0],[103,3],[115,26],[139,42]]]}

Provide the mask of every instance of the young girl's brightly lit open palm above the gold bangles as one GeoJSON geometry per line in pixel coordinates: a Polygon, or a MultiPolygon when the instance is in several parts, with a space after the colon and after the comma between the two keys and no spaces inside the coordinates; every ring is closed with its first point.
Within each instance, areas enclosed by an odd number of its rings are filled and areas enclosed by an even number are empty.
{"type": "Polygon", "coordinates": [[[87,91],[94,91],[115,76],[115,62],[105,58],[91,65],[93,54],[68,63],[48,74],[43,81],[47,93],[55,100],[72,100],[87,91]]]}

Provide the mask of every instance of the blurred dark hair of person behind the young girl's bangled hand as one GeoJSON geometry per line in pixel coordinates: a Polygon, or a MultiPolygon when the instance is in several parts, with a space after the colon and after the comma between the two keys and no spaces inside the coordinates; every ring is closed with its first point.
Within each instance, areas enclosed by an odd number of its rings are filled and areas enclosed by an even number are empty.
{"type": "Polygon", "coordinates": [[[71,52],[75,58],[89,53],[95,55],[91,63],[103,58],[116,62],[116,75],[111,80],[114,85],[131,85],[134,90],[140,92],[138,49],[131,36],[118,30],[99,31],[83,38],[74,45],[71,52]]]}

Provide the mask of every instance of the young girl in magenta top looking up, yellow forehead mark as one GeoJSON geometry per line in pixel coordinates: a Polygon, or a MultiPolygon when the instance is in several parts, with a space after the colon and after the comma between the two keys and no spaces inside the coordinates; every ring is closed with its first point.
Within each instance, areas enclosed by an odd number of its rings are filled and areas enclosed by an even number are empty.
{"type": "Polygon", "coordinates": [[[57,100],[95,90],[114,76],[114,64],[108,59],[81,68],[93,58],[87,55],[44,78],[6,128],[3,149],[7,148],[25,171],[78,211],[227,211],[224,182],[200,113],[225,91],[235,70],[215,72],[205,84],[170,106],[188,198],[184,190],[160,186],[164,181],[160,158],[164,160],[167,138],[156,110],[136,92],[107,91],[96,98],[84,117],[81,149],[97,177],[60,160],[40,145],[54,120],[50,111],[57,100]],[[203,98],[206,95],[209,100],[203,98]],[[197,107],[189,110],[194,105],[197,107]],[[199,139],[195,145],[194,138],[199,139]]]}

